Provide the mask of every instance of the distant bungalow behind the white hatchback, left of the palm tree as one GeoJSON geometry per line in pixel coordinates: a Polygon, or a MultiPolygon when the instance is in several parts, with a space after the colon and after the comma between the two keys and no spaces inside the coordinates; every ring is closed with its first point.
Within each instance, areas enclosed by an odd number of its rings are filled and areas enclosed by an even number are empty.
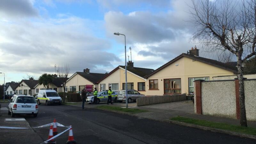
{"type": "Polygon", "coordinates": [[[33,96],[35,94],[35,86],[38,84],[38,80],[30,78],[29,80],[21,80],[20,83],[15,87],[16,94],[25,94],[33,96]]]}

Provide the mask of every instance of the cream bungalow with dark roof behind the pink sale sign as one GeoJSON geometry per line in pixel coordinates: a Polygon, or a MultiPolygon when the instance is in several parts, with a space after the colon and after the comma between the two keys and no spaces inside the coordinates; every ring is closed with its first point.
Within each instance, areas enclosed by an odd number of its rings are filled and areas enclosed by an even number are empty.
{"type": "Polygon", "coordinates": [[[99,88],[98,81],[106,74],[90,73],[90,69],[84,69],[84,72],[76,72],[66,82],[65,92],[82,91],[86,85],[92,85],[93,89],[99,88]]]}

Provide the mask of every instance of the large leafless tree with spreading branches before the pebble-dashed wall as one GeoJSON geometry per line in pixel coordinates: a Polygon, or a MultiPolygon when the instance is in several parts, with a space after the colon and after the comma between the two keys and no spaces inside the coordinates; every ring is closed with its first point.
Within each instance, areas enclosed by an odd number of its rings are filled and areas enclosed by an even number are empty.
{"type": "Polygon", "coordinates": [[[255,55],[256,1],[192,0],[191,20],[197,31],[192,39],[209,51],[228,50],[236,56],[239,80],[240,126],[247,126],[243,63],[255,55]]]}

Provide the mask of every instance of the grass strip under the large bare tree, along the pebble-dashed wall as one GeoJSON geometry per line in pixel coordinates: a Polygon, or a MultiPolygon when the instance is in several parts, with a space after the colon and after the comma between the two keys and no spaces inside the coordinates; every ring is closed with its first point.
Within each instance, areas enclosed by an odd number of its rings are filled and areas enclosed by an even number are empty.
{"type": "Polygon", "coordinates": [[[256,128],[252,128],[252,127],[242,127],[242,126],[238,126],[238,125],[218,123],[218,122],[212,122],[212,121],[206,121],[206,120],[199,120],[199,119],[182,117],[182,116],[173,117],[173,118],[170,118],[170,120],[188,123],[188,124],[196,124],[196,125],[201,125],[201,126],[205,126],[205,127],[226,130],[226,131],[256,135],[256,128]]]}

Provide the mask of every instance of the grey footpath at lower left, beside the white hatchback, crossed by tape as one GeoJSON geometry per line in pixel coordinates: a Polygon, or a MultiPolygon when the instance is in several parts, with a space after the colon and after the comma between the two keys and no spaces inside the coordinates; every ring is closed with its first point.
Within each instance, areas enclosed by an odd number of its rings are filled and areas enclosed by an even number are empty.
{"type": "MultiPolygon", "coordinates": [[[[0,126],[30,128],[30,125],[23,117],[12,118],[11,115],[8,115],[8,103],[1,104],[2,108],[0,108],[0,126]]],[[[1,129],[0,131],[0,143],[28,144],[31,142],[41,143],[43,141],[33,129],[1,129]]]]}

